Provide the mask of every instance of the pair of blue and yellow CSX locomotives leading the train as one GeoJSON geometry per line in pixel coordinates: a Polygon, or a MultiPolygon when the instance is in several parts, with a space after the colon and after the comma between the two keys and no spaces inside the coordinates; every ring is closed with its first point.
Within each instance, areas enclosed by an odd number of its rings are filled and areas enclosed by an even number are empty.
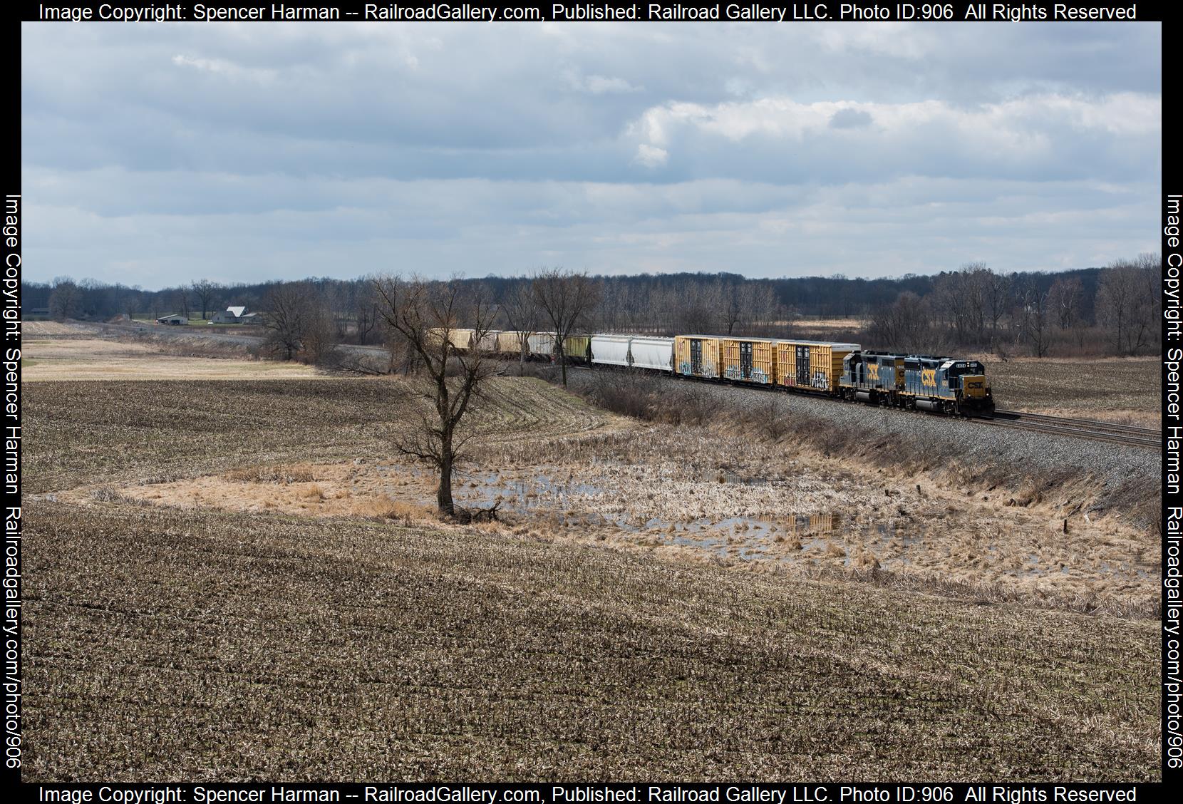
{"type": "Polygon", "coordinates": [[[994,396],[977,361],[853,351],[842,361],[842,398],[912,410],[989,414],[994,396]]]}

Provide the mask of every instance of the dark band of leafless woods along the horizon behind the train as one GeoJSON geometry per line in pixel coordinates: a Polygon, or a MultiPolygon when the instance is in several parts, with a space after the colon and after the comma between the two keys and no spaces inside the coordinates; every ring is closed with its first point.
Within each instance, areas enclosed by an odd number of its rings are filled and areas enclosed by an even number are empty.
{"type": "MultiPolygon", "coordinates": [[[[974,262],[936,275],[892,279],[595,277],[543,270],[458,281],[489,305],[493,329],[512,331],[791,336],[851,339],[871,349],[989,351],[1003,358],[1145,355],[1162,348],[1158,254],[1060,273],[997,273],[974,262]]],[[[198,279],[144,291],[59,277],[24,283],[21,305],[26,318],[155,319],[177,313],[190,323],[231,305],[246,306],[263,316],[273,356],[323,362],[335,344],[390,342],[375,287],[373,277],[253,285],[198,279]]],[[[563,356],[556,355],[556,362],[563,356]]]]}

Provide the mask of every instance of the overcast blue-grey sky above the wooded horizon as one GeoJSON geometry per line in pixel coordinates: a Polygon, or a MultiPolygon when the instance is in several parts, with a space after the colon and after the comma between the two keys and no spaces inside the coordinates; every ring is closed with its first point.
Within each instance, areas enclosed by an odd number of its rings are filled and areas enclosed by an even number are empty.
{"type": "Polygon", "coordinates": [[[26,22],[25,278],[1105,265],[1161,76],[1156,22],[26,22]]]}

